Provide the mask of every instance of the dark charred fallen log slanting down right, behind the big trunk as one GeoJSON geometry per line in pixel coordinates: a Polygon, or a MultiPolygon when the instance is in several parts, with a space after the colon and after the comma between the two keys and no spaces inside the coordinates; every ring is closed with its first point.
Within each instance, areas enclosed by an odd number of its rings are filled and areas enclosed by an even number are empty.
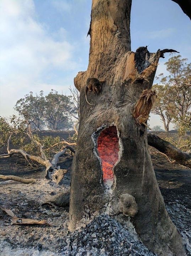
{"type": "Polygon", "coordinates": [[[147,134],[148,145],[158,149],[169,158],[176,160],[177,163],[191,168],[191,154],[181,151],[174,147],[170,142],[159,138],[155,134],[147,134]]]}

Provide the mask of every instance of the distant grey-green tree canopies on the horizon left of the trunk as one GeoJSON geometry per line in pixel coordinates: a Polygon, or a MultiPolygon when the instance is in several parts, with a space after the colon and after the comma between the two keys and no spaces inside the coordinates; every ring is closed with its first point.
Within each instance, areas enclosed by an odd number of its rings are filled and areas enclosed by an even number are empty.
{"type": "Polygon", "coordinates": [[[47,96],[43,91],[35,96],[30,92],[17,101],[15,110],[31,124],[32,129],[66,130],[73,126],[71,117],[77,114],[72,99],[73,96],[59,94],[53,89],[47,96]]]}

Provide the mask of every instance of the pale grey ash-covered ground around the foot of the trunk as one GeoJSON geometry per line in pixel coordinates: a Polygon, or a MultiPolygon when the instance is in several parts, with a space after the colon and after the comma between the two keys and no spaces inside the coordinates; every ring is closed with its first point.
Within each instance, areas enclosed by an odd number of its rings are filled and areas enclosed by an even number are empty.
{"type": "MultiPolygon", "coordinates": [[[[184,172],[184,176],[190,178],[190,173],[184,172]]],[[[164,171],[164,174],[168,172],[164,171]]],[[[182,171],[181,177],[183,174],[182,171]]],[[[190,255],[190,183],[186,178],[184,185],[174,184],[171,188],[168,179],[165,182],[159,180],[159,185],[163,185],[161,192],[169,216],[183,237],[187,255],[190,255]]],[[[52,224],[11,225],[11,217],[0,210],[0,256],[153,255],[123,224],[105,214],[95,218],[81,231],[68,232],[68,209],[42,206],[52,195],[67,189],[66,185],[55,185],[45,179],[34,184],[0,182],[0,208],[11,209],[18,217],[44,219],[52,224]]]]}

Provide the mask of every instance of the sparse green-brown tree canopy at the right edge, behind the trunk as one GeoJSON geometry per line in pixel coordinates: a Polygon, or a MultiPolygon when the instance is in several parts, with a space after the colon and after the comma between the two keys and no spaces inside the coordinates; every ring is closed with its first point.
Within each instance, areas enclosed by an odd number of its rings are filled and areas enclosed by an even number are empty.
{"type": "Polygon", "coordinates": [[[160,74],[160,84],[153,86],[158,97],[152,112],[164,124],[176,123],[180,135],[191,129],[191,63],[186,61],[180,55],[169,58],[165,63],[169,75],[160,74]]]}

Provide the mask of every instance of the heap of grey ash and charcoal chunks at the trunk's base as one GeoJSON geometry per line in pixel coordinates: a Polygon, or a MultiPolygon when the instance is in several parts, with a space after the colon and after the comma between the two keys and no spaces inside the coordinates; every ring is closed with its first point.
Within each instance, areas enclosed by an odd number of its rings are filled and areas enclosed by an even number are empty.
{"type": "Polygon", "coordinates": [[[137,238],[118,221],[101,214],[81,231],[68,234],[63,256],[153,256],[137,238]]]}

